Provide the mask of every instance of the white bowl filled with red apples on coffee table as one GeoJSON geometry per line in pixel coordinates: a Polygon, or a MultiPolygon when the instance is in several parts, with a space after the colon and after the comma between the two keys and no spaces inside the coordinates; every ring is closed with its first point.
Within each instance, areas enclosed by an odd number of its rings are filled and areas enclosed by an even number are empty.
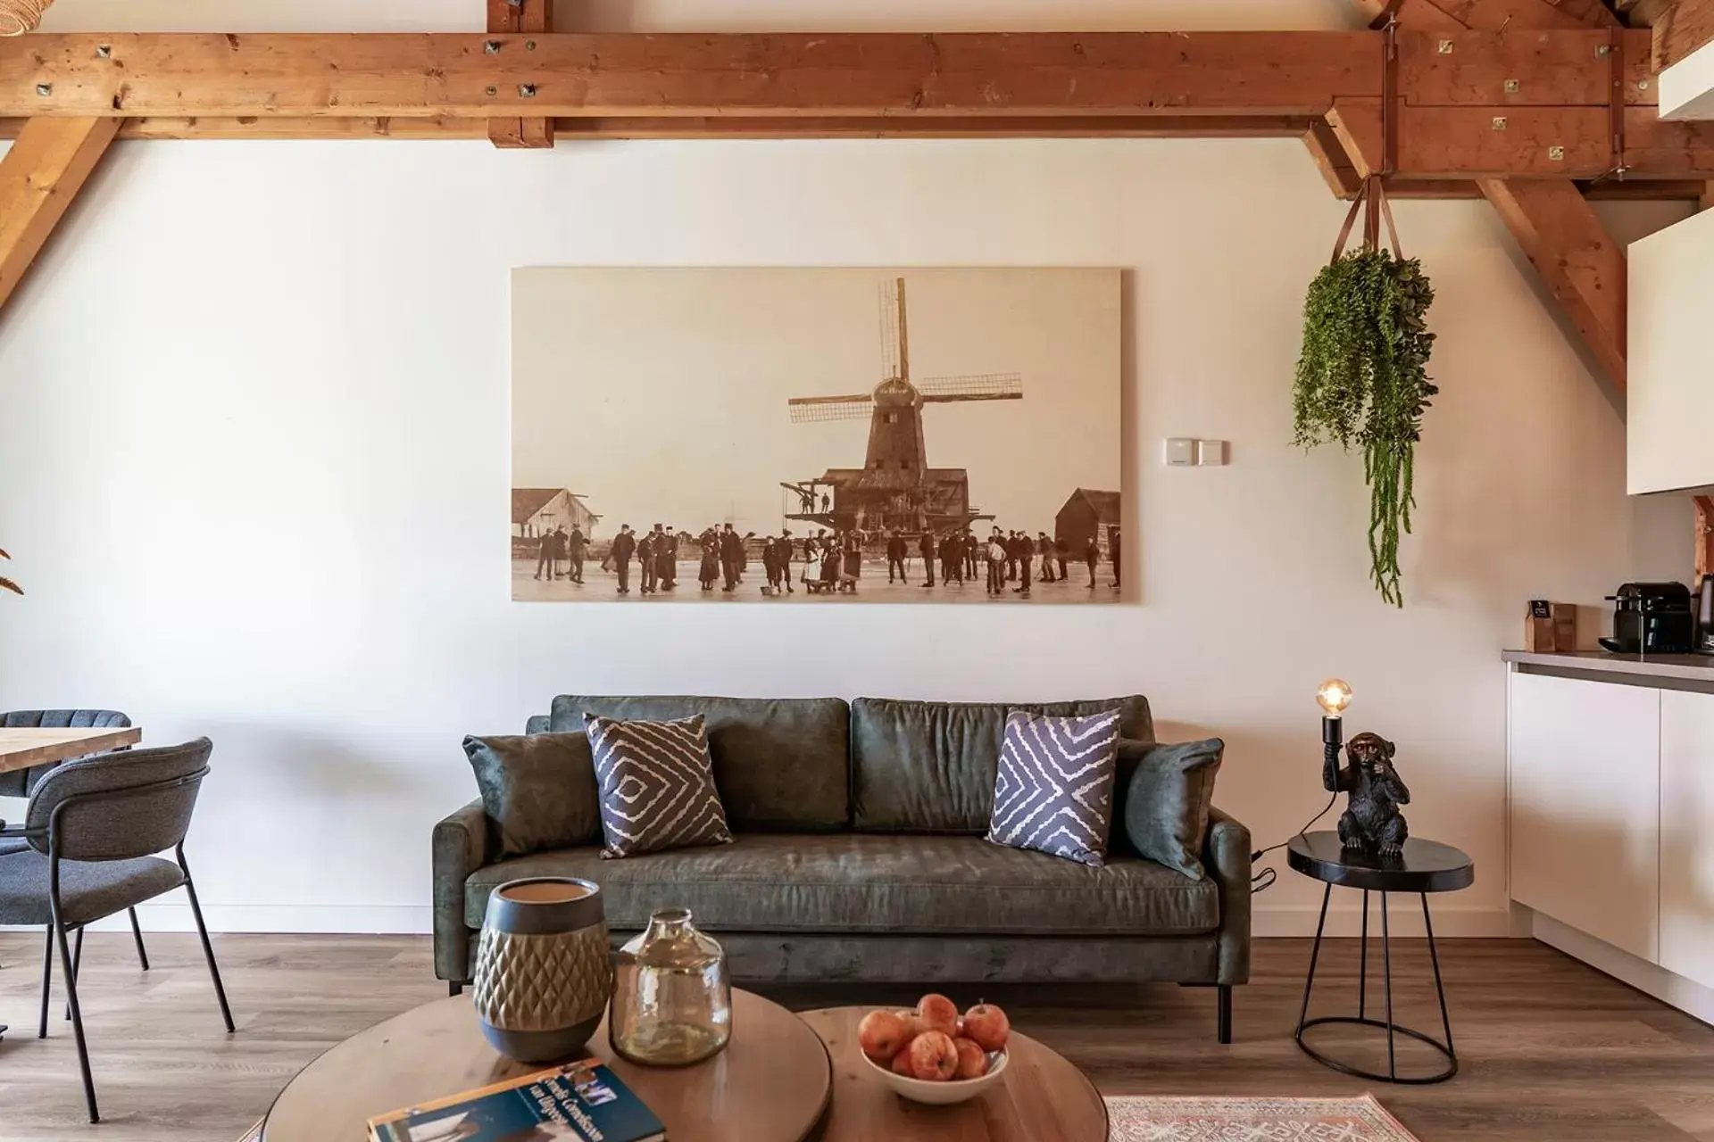
{"type": "Polygon", "coordinates": [[[944,995],[924,995],[912,1010],[864,1015],[857,1046],[900,1097],[951,1106],[999,1082],[1010,1034],[1011,1020],[992,1003],[977,1003],[960,1015],[944,995]]]}

